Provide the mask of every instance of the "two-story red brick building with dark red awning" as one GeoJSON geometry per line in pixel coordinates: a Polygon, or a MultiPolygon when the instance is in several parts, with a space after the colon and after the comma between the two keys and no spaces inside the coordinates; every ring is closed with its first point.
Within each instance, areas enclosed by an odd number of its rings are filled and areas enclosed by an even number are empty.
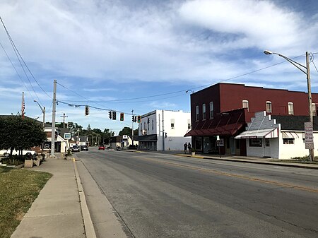
{"type": "MultiPolygon", "coordinates": [[[[317,114],[318,94],[312,93],[312,111],[317,114]]],[[[197,151],[218,153],[216,136],[224,146],[221,154],[246,155],[245,140],[235,136],[245,131],[255,112],[307,116],[308,95],[305,92],[250,87],[243,84],[218,83],[191,95],[192,136],[197,151]]]]}

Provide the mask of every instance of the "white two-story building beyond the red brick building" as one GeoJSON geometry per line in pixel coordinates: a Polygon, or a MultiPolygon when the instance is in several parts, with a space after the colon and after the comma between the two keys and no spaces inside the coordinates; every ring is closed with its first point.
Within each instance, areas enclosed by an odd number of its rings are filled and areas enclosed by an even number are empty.
{"type": "Polygon", "coordinates": [[[191,114],[182,111],[155,110],[141,116],[139,148],[144,150],[183,150],[191,137],[191,114]]]}

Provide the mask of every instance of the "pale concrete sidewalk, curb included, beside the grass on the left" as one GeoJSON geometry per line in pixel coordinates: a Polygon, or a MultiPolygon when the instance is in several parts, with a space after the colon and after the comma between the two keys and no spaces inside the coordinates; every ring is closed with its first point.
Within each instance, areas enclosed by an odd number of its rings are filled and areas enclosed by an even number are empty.
{"type": "Polygon", "coordinates": [[[40,167],[32,169],[53,176],[11,238],[95,238],[76,162],[59,158],[57,154],[57,158],[47,158],[40,167]]]}

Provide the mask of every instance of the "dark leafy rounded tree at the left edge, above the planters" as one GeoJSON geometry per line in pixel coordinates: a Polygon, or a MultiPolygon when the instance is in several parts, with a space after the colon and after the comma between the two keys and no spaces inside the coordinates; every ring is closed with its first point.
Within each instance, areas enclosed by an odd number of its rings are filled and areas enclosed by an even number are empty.
{"type": "Polygon", "coordinates": [[[47,139],[42,124],[19,116],[0,117],[0,148],[24,150],[40,145],[47,139]]]}

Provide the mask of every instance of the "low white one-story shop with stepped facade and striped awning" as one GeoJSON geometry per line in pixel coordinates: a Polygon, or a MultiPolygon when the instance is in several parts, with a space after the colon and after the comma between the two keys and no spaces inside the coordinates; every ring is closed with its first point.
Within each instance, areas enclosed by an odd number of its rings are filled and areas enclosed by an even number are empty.
{"type": "MultiPolygon", "coordinates": [[[[305,148],[304,123],[307,121],[310,121],[308,116],[266,115],[266,112],[257,112],[247,124],[247,131],[235,139],[247,140],[247,156],[278,159],[309,156],[309,150],[305,148]]],[[[317,122],[315,117],[314,122],[317,122]]],[[[314,130],[314,145],[317,146],[318,131],[315,127],[314,130]]]]}

